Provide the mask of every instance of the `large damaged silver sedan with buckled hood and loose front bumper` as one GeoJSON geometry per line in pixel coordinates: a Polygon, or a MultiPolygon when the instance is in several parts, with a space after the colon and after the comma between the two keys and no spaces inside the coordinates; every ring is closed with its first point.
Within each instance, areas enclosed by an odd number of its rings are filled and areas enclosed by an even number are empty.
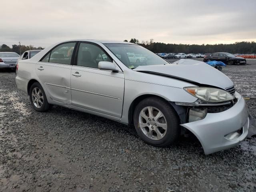
{"type": "Polygon", "coordinates": [[[233,82],[197,60],[170,64],[137,44],[70,40],[17,68],[16,84],[34,110],[59,105],[130,124],[153,146],[168,146],[189,130],[210,154],[248,134],[246,104],[233,82]],[[133,62],[130,54],[147,60],[133,62]]]}

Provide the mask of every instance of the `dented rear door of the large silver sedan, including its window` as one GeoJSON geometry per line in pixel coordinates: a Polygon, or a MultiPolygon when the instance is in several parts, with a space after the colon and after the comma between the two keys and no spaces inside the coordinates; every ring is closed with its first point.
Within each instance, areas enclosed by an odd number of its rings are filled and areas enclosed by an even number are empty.
{"type": "Polygon", "coordinates": [[[76,42],[53,48],[36,65],[36,74],[50,98],[61,105],[71,104],[70,73],[76,42]]]}

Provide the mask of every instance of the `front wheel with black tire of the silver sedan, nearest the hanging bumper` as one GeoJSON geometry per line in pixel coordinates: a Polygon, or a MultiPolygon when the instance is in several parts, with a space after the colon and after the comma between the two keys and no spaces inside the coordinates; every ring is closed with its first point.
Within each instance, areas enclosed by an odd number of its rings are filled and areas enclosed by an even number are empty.
{"type": "Polygon", "coordinates": [[[134,126],[144,142],[165,147],[180,135],[179,118],[168,102],[158,97],[142,100],[134,111],[134,126]]]}

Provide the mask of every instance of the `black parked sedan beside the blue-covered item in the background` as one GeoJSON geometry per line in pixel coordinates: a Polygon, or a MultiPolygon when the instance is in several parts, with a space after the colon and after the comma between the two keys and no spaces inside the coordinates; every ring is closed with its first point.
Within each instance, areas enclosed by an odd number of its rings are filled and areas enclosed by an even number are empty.
{"type": "Polygon", "coordinates": [[[211,56],[204,57],[204,62],[207,61],[222,61],[228,65],[246,64],[246,59],[226,52],[213,53],[211,56]]]}

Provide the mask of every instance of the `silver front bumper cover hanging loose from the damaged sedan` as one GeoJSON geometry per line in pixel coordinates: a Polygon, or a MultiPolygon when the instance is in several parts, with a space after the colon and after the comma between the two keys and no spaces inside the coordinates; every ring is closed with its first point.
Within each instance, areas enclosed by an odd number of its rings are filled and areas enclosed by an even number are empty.
{"type": "Polygon", "coordinates": [[[211,154],[238,145],[248,134],[249,114],[244,99],[235,92],[238,102],[230,109],[220,113],[208,113],[202,120],[182,124],[201,142],[205,154],[211,154]],[[243,129],[235,140],[224,136],[243,129]]]}

